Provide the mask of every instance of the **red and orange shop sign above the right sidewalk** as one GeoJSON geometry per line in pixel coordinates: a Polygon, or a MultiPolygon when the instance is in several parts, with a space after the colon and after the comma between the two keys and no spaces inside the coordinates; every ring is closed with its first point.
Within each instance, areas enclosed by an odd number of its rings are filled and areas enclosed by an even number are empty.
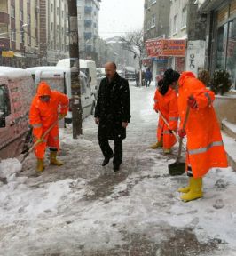
{"type": "Polygon", "coordinates": [[[185,57],[185,39],[150,39],[146,41],[149,57],[185,57]]]}

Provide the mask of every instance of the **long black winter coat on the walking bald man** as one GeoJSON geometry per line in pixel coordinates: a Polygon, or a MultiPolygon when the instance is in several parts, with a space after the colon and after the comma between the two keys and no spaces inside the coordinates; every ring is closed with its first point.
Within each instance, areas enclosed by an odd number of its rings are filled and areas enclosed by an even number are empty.
{"type": "Polygon", "coordinates": [[[126,129],[122,122],[130,122],[130,89],[128,81],[117,73],[109,84],[102,79],[98,91],[95,117],[99,118],[98,140],[123,140],[126,129]]]}

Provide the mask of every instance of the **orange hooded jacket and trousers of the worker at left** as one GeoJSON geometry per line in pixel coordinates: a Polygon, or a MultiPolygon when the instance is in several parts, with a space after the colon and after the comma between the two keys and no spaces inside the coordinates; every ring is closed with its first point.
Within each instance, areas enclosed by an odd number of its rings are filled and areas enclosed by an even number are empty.
{"type": "MultiPolygon", "coordinates": [[[[52,124],[59,119],[59,114],[67,114],[69,100],[67,95],[51,91],[50,86],[45,82],[38,85],[37,94],[32,101],[29,122],[33,126],[33,135],[35,140],[41,139],[52,124]],[[49,95],[50,101],[43,102],[40,96],[49,95]]],[[[42,143],[35,146],[35,156],[43,158],[46,146],[54,150],[59,150],[59,125],[56,124],[48,135],[45,136],[42,143]]]]}

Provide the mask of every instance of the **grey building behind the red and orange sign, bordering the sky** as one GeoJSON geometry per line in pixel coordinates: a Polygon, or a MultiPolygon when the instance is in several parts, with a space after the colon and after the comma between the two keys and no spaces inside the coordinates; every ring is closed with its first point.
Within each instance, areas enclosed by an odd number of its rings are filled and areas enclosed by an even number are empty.
{"type": "MultiPolygon", "coordinates": [[[[146,0],[144,19],[144,39],[166,38],[169,35],[170,2],[166,0],[146,0]]],[[[166,58],[146,58],[143,61],[146,68],[151,68],[153,77],[161,74],[167,68],[166,58]]]]}

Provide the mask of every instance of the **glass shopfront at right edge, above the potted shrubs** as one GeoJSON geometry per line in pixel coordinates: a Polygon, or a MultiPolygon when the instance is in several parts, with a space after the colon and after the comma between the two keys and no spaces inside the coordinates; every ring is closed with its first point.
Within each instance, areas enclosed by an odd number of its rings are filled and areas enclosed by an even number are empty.
{"type": "Polygon", "coordinates": [[[206,0],[199,12],[207,15],[205,68],[226,69],[236,88],[236,0],[206,0]]]}

